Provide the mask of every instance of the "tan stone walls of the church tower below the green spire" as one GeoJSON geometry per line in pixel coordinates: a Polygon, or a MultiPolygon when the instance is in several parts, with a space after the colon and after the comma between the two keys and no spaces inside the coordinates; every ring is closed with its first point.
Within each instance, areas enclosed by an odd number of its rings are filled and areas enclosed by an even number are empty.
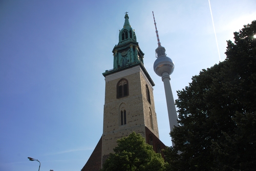
{"type": "Polygon", "coordinates": [[[129,135],[133,131],[146,138],[145,126],[159,137],[153,87],[140,66],[137,65],[106,76],[102,157],[114,152],[117,139],[129,135]],[[117,83],[120,79],[128,81],[129,95],[117,99],[117,83]],[[146,85],[150,90],[151,104],[146,99],[146,85]],[[126,110],[126,125],[121,125],[120,107],[124,107],[126,110]],[[150,109],[154,129],[151,127],[150,109]]]}

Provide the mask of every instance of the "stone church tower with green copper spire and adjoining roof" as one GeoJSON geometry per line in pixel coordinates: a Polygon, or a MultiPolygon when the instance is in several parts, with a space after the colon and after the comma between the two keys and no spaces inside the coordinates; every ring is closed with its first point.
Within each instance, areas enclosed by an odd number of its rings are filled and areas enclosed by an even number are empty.
{"type": "Polygon", "coordinates": [[[97,156],[99,151],[101,151],[102,165],[109,154],[114,153],[117,139],[132,132],[140,133],[148,144],[153,145],[157,153],[165,148],[159,140],[153,95],[155,84],[144,67],[144,54],[130,25],[127,12],[124,18],[123,28],[119,32],[119,42],[112,51],[113,69],[103,73],[105,77],[103,134],[97,144],[98,149],[96,146],[82,171],[93,170],[87,169],[87,165],[96,163],[93,156],[99,158],[97,156]]]}

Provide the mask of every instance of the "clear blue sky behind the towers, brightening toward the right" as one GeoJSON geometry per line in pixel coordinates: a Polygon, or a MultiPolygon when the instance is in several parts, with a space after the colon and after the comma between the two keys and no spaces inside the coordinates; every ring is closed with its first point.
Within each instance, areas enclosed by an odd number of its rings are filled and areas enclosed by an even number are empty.
{"type": "MultiPolygon", "coordinates": [[[[254,0],[211,1],[221,61],[226,40],[256,19],[254,0]]],[[[0,1],[0,170],[80,170],[101,134],[102,72],[113,68],[124,13],[155,82],[160,139],[171,145],[157,38],[175,63],[174,98],[220,61],[208,1],[0,1]]]]}

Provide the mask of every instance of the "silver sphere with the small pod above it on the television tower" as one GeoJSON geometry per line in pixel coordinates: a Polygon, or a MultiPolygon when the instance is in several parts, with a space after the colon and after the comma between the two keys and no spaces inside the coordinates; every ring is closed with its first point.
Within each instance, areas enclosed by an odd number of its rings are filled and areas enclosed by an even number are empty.
{"type": "Polygon", "coordinates": [[[163,76],[163,72],[167,72],[171,75],[174,71],[174,63],[172,59],[165,55],[165,48],[158,46],[156,48],[157,60],[154,62],[154,71],[159,77],[163,76]]]}

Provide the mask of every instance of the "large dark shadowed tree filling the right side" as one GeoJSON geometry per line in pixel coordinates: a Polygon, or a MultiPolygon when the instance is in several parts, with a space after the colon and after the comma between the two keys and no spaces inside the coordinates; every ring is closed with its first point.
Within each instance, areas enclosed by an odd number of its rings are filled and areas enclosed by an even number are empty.
{"type": "Polygon", "coordinates": [[[178,91],[168,170],[256,168],[256,21],[234,32],[227,58],[178,91]],[[177,154],[179,152],[179,154],[177,154]]]}

